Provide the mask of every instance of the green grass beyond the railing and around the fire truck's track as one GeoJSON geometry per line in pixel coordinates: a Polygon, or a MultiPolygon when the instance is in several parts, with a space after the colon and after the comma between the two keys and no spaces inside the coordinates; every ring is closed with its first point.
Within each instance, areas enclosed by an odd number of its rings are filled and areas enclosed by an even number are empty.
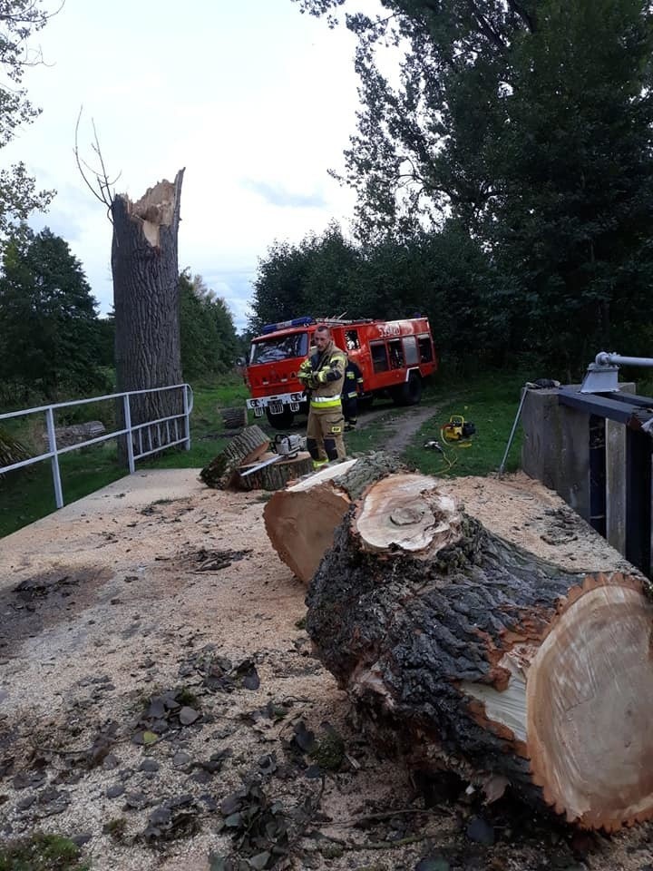
{"type": "MultiPolygon", "coordinates": [[[[511,433],[519,406],[520,391],[527,376],[520,373],[492,373],[468,379],[444,380],[436,377],[424,390],[423,405],[432,406],[434,417],[426,421],[414,436],[404,459],[426,475],[488,475],[496,471],[511,433]],[[444,454],[424,448],[424,442],[442,441],[441,426],[451,415],[462,415],[476,426],[470,445],[446,445],[444,454]]],[[[238,377],[227,377],[218,384],[194,385],[194,406],[191,416],[191,449],[168,450],[154,460],[139,463],[138,468],[180,469],[207,465],[228,444],[220,409],[240,406],[247,398],[247,388],[238,377]]],[[[387,415],[375,419],[373,425],[346,435],[347,451],[351,455],[384,449],[391,437],[390,418],[404,409],[378,403],[387,415]]],[[[360,416],[365,419],[365,412],[360,416]]],[[[255,422],[250,415],[249,423],[255,422]]],[[[256,420],[270,435],[266,418],[256,420]]],[[[294,426],[303,431],[303,424],[294,426]]],[[[18,434],[22,435],[22,434],[18,434]]],[[[34,443],[34,432],[30,437],[34,443]]],[[[40,436],[38,436],[40,437],[40,436]]],[[[511,472],[520,465],[521,427],[517,428],[506,464],[511,472]]],[[[93,493],[127,474],[118,465],[114,441],[72,451],[60,458],[63,497],[68,504],[93,493]]],[[[0,479],[0,537],[15,532],[26,524],[54,511],[52,473],[49,462],[31,466],[24,472],[0,479]]],[[[1,869],[0,869],[1,871],[1,869]]]]}

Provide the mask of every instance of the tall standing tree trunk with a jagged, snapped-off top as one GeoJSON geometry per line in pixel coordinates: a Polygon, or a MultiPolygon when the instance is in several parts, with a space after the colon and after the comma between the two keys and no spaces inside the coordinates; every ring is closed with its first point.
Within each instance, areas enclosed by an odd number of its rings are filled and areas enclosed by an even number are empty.
{"type": "MultiPolygon", "coordinates": [[[[160,181],[137,202],[126,195],[112,201],[115,361],[121,393],[181,383],[177,236],[183,173],[172,183],[160,181]]],[[[132,424],[182,410],[178,391],[134,396],[132,424]]]]}

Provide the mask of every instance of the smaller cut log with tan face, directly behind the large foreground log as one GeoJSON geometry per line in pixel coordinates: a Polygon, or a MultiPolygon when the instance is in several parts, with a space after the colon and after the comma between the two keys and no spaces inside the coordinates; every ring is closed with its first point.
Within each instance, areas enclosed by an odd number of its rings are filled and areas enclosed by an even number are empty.
{"type": "Polygon", "coordinates": [[[333,545],[334,530],[352,499],[397,468],[395,459],[370,454],[364,460],[329,464],[279,490],[263,511],[266,531],[279,559],[307,584],[333,545]]]}

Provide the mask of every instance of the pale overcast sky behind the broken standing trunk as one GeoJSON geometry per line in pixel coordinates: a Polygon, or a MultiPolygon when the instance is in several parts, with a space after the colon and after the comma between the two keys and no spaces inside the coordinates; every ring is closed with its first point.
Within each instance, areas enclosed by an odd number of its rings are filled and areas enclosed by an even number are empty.
{"type": "MultiPolygon", "coordinates": [[[[360,5],[360,4],[358,4],[360,5]]],[[[368,8],[374,7],[369,0],[368,8]]],[[[55,8],[54,0],[52,7],[55,8]]],[[[111,224],[75,165],[95,122],[118,193],[137,200],[186,168],[180,269],[200,273],[244,328],[258,258],[351,215],[342,168],[356,129],[354,38],[290,0],[65,0],[34,40],[47,65],[24,85],[42,115],[3,150],[58,193],[47,225],[112,305],[111,224]]]]}

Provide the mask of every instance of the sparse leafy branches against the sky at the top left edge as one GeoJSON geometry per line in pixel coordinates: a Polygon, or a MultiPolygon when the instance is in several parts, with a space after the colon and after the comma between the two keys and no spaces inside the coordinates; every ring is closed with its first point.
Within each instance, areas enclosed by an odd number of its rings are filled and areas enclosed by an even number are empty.
{"type": "MultiPolygon", "coordinates": [[[[0,0],[0,64],[9,80],[0,85],[0,148],[40,113],[20,85],[25,67],[41,60],[40,54],[27,49],[27,40],[49,18],[40,0],[0,0]]],[[[44,209],[53,196],[54,191],[36,191],[36,183],[23,162],[0,170],[0,236],[26,220],[34,209],[44,209]]]]}

